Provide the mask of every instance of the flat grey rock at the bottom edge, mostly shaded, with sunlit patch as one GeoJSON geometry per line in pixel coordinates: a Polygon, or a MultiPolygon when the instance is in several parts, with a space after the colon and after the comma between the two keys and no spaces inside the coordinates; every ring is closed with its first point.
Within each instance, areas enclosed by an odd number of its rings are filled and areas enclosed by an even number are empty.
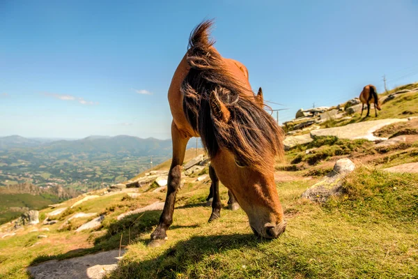
{"type": "MultiPolygon", "coordinates": [[[[124,252],[121,250],[121,255],[124,252]]],[[[35,279],[100,279],[116,269],[119,259],[119,250],[110,250],[62,261],[42,262],[29,266],[28,271],[35,279]]]]}

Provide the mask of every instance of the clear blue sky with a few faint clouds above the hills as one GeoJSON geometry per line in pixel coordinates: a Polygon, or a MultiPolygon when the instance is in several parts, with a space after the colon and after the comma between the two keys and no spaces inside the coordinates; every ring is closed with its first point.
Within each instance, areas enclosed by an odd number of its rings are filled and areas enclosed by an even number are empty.
{"type": "Polygon", "coordinates": [[[171,77],[212,18],[219,53],[287,121],[383,91],[382,75],[418,81],[417,14],[414,0],[0,0],[0,136],[171,137],[171,77]]]}

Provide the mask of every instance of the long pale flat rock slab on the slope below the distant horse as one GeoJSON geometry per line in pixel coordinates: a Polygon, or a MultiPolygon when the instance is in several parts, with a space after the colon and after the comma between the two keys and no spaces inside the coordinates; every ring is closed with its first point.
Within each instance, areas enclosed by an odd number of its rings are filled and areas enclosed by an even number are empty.
{"type": "MultiPolygon", "coordinates": [[[[312,130],[311,137],[327,137],[334,136],[345,140],[370,140],[371,142],[382,142],[387,140],[386,137],[376,137],[373,133],[387,125],[405,122],[408,119],[380,119],[374,121],[364,121],[351,123],[346,126],[333,127],[319,130],[312,130]]],[[[285,140],[286,141],[286,140],[285,140]]]]}

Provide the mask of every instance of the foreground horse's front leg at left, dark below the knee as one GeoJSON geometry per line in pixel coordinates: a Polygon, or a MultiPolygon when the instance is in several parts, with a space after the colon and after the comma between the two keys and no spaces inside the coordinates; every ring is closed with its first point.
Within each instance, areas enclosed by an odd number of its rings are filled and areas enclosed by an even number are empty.
{"type": "Polygon", "coordinates": [[[160,223],[157,229],[151,234],[151,242],[148,246],[155,247],[167,240],[167,229],[173,223],[174,204],[176,203],[176,194],[180,186],[181,170],[183,160],[185,159],[185,151],[189,137],[185,137],[178,130],[174,121],[171,123],[171,139],[173,141],[173,159],[171,160],[171,167],[169,171],[169,178],[167,181],[167,197],[164,204],[164,209],[160,216],[160,223]]]}

